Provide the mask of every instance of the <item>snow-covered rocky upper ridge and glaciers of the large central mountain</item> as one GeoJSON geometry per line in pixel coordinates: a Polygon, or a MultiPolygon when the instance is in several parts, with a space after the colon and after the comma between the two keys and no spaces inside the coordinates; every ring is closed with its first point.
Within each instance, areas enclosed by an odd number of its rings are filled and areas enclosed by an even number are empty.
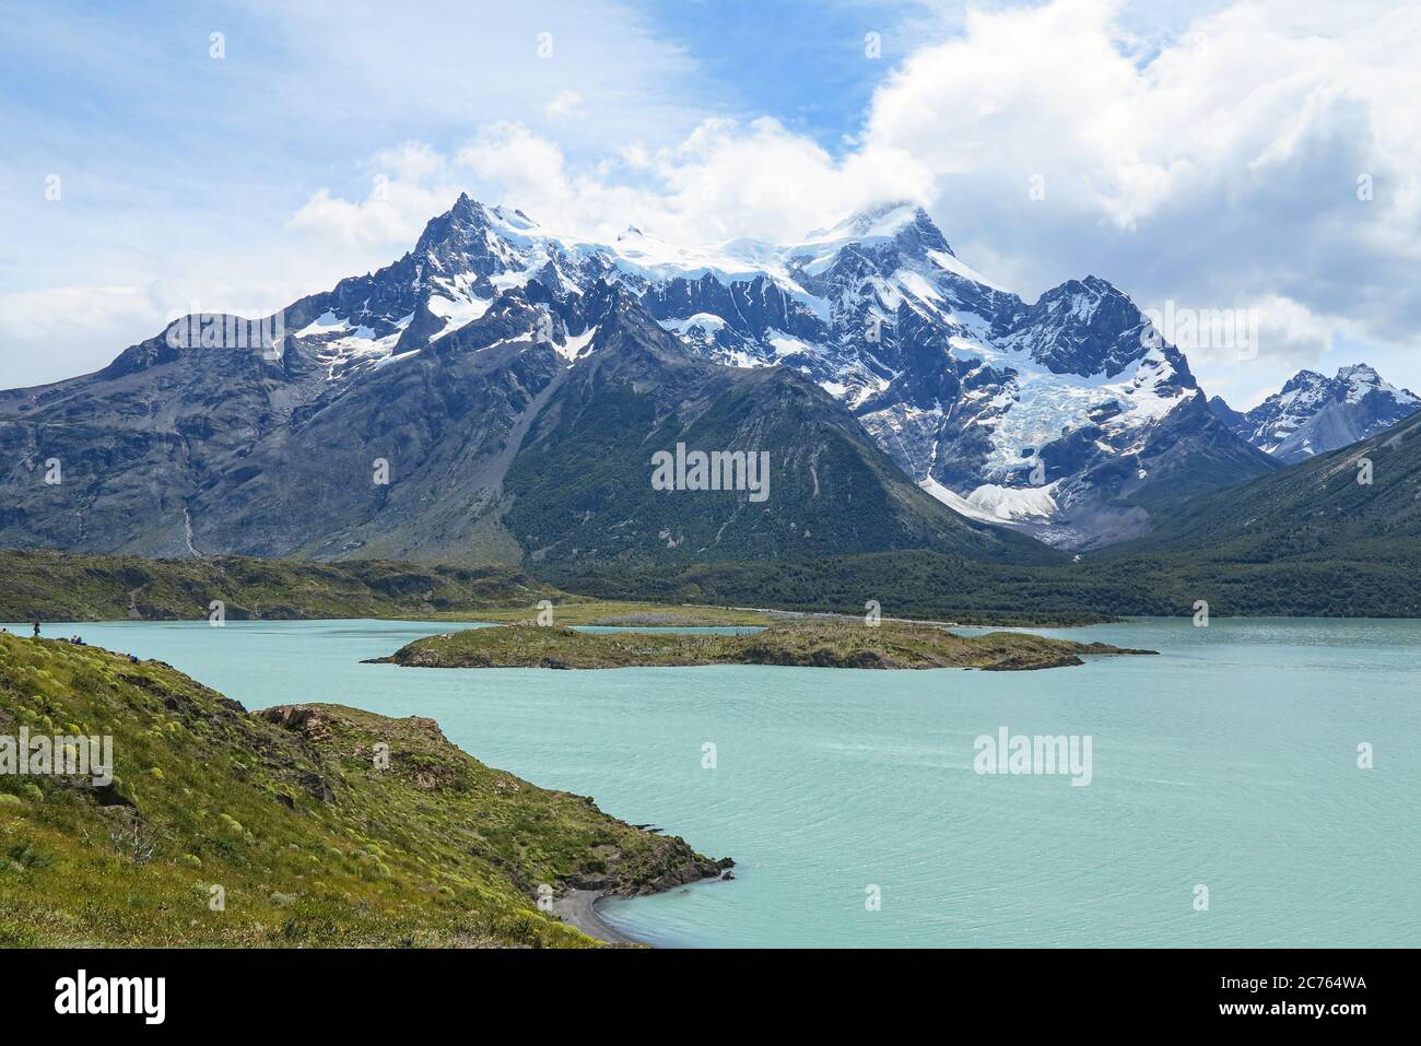
{"type": "Polygon", "coordinates": [[[909,203],[791,244],[685,246],[635,227],[608,244],[560,239],[462,196],[395,266],[298,303],[297,343],[340,378],[448,335],[510,287],[566,298],[603,279],[708,360],[810,377],[958,512],[1063,547],[1142,533],[1161,499],[1272,466],[1108,281],[1029,304],[909,203]]]}

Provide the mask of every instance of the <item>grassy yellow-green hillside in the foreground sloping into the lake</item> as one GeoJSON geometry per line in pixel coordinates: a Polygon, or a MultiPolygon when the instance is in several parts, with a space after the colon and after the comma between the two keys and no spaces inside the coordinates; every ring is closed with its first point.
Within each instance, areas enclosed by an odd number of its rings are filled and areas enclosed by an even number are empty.
{"type": "Polygon", "coordinates": [[[161,662],[0,635],[0,735],[21,728],[112,735],[114,783],[0,773],[0,945],[584,947],[537,911],[539,884],[638,894],[719,871],[431,719],[249,713],[161,662]]]}

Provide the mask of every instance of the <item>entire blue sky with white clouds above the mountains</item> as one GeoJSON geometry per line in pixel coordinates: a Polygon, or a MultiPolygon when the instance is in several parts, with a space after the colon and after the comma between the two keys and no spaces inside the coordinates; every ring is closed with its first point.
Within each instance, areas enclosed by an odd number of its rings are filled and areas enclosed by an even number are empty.
{"type": "Polygon", "coordinates": [[[1027,298],[1096,273],[1141,306],[1255,310],[1256,360],[1191,354],[1233,402],[1360,358],[1421,388],[1421,28],[1387,4],[0,17],[4,387],[101,367],[190,303],[279,308],[378,267],[468,190],[581,236],[637,223],[689,240],[790,239],[911,196],[1027,298]]]}

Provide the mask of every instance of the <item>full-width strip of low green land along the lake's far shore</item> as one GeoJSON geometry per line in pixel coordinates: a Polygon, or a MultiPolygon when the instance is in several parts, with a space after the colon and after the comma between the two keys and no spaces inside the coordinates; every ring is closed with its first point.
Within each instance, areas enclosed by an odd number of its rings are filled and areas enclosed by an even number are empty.
{"type": "Polygon", "coordinates": [[[1010,566],[931,551],[818,560],[607,570],[301,563],[222,557],[134,557],[0,551],[0,620],[202,620],[215,598],[227,617],[418,618],[526,622],[551,600],[557,624],[766,624],[753,610],[885,617],[963,625],[1079,625],[1115,615],[1215,614],[1421,617],[1421,539],[1357,550],[1265,559],[1256,551],[1130,546],[1081,563],[1010,566]],[[1346,553],[1346,554],[1344,554],[1346,553]],[[1253,556],[1255,559],[1243,559],[1253,556]],[[564,590],[564,591],[560,591],[564,590]],[[574,594],[576,593],[576,594],[574,594]]]}

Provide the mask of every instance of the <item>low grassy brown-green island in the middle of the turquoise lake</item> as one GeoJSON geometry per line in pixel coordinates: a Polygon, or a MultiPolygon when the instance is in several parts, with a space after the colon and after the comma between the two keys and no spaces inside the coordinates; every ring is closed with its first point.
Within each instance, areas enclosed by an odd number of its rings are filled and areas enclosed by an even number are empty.
{"type": "Polygon", "coordinates": [[[813,621],[746,635],[580,632],[496,625],[415,640],[369,664],[411,668],[637,668],[797,665],[804,668],[980,668],[1020,671],[1080,665],[1083,657],[1154,654],[1026,632],[955,635],[929,624],[813,621]]]}

